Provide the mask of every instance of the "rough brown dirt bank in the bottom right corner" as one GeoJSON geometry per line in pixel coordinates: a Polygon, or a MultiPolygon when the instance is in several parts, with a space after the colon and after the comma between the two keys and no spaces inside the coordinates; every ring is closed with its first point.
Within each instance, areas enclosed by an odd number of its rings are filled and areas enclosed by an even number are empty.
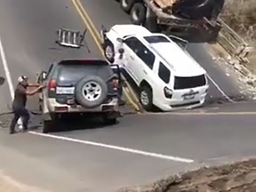
{"type": "Polygon", "coordinates": [[[152,185],[118,192],[256,192],[256,159],[203,167],[152,185]]]}

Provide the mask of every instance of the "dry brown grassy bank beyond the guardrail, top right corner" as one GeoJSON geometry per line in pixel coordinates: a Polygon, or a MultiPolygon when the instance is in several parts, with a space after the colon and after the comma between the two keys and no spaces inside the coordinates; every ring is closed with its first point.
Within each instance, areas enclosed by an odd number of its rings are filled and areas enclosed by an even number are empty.
{"type": "Polygon", "coordinates": [[[256,44],[255,0],[226,0],[220,17],[247,42],[256,44]]]}

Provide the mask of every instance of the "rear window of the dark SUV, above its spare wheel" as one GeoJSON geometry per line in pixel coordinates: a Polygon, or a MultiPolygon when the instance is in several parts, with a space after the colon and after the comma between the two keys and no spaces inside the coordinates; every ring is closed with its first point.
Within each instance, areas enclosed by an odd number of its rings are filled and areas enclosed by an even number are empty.
{"type": "Polygon", "coordinates": [[[107,81],[113,75],[113,71],[109,65],[97,65],[97,63],[59,65],[57,84],[58,86],[74,86],[81,78],[93,75],[107,81]]]}

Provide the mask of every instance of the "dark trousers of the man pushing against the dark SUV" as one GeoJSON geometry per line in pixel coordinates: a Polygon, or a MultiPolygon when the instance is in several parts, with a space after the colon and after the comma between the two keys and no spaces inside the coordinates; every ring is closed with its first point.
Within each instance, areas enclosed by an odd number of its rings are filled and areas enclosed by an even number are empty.
{"type": "Polygon", "coordinates": [[[20,117],[22,117],[22,123],[24,130],[28,129],[28,120],[29,120],[29,113],[28,110],[24,107],[13,108],[14,110],[14,117],[12,119],[12,123],[10,126],[10,132],[14,132],[15,125],[20,117]]]}

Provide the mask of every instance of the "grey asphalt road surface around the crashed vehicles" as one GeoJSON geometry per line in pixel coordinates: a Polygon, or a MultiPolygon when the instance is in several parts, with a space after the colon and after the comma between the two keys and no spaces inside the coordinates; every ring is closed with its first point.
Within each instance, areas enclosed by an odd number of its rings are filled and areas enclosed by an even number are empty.
{"type": "MultiPolygon", "coordinates": [[[[113,1],[82,1],[99,29],[129,22],[113,1]]],[[[13,85],[20,74],[33,81],[53,60],[101,57],[92,36],[85,49],[60,48],[55,30],[64,26],[83,30],[85,25],[68,0],[2,0],[0,38],[13,85]]],[[[190,53],[226,94],[238,94],[236,83],[211,60],[204,44],[193,44],[190,53]]],[[[0,76],[5,76],[0,64],[0,76]]],[[[11,95],[7,83],[0,87],[0,109],[7,110],[11,95]]],[[[223,95],[211,85],[213,97],[223,95]]],[[[36,109],[36,97],[28,107],[36,109]]],[[[2,116],[0,170],[14,180],[49,191],[108,192],[139,185],[165,175],[246,156],[254,156],[255,104],[206,106],[193,111],[126,115],[120,123],[105,126],[97,119],[64,121],[62,131],[41,135],[40,117],[33,116],[28,133],[9,135],[11,116],[2,116]],[[237,113],[238,112],[238,113],[237,113]],[[6,124],[5,124],[6,123],[6,124]],[[6,127],[5,127],[6,126],[6,127]]]]}

